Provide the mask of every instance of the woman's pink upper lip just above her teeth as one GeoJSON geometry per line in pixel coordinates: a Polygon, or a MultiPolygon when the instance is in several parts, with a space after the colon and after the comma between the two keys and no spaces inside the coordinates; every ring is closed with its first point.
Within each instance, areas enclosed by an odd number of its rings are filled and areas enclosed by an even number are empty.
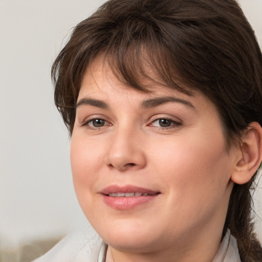
{"type": "Polygon", "coordinates": [[[126,186],[111,185],[102,189],[100,193],[107,195],[110,193],[132,193],[132,192],[149,193],[149,194],[160,193],[159,191],[155,191],[139,186],[133,186],[133,185],[126,185],[126,186]]]}

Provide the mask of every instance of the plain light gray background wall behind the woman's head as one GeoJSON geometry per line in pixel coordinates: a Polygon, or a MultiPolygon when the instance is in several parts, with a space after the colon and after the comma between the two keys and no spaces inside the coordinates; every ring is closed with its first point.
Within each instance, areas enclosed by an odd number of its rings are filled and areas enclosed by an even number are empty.
{"type": "MultiPolygon", "coordinates": [[[[86,223],[50,69],[69,30],[103,2],[0,0],[0,249],[86,223]]],[[[239,3],[262,46],[262,0],[239,3]]],[[[256,211],[262,216],[259,205],[256,211]]],[[[257,231],[262,239],[261,224],[257,231]]]]}

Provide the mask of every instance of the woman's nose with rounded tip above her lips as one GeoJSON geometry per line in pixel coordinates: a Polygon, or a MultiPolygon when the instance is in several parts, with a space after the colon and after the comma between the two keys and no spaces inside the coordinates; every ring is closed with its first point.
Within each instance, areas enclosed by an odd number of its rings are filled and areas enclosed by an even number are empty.
{"type": "Polygon", "coordinates": [[[139,130],[119,130],[112,137],[106,155],[106,165],[119,171],[137,170],[145,167],[146,155],[139,130]]]}

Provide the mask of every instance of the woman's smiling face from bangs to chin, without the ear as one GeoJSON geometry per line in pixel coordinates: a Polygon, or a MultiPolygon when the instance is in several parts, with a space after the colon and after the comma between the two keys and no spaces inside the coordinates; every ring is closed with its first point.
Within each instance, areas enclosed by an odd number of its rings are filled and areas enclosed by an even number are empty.
{"type": "Polygon", "coordinates": [[[111,247],[160,251],[222,232],[234,161],[206,97],[157,84],[138,92],[99,59],[86,71],[73,180],[84,214],[111,247]]]}

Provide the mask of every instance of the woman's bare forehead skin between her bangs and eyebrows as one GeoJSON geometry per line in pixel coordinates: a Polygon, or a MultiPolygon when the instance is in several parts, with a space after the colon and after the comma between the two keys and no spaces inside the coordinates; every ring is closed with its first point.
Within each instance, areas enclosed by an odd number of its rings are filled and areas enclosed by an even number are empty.
{"type": "Polygon", "coordinates": [[[137,93],[141,97],[145,94],[150,97],[176,93],[179,96],[190,98],[199,94],[198,91],[188,88],[186,84],[179,81],[169,85],[147,65],[144,70],[145,77],[141,79],[141,76],[137,76],[134,82],[128,76],[119,73],[119,70],[112,68],[112,63],[108,63],[106,58],[99,56],[85,70],[78,100],[84,95],[83,93],[108,93],[108,91],[112,95],[119,92],[129,95],[137,93]]]}

